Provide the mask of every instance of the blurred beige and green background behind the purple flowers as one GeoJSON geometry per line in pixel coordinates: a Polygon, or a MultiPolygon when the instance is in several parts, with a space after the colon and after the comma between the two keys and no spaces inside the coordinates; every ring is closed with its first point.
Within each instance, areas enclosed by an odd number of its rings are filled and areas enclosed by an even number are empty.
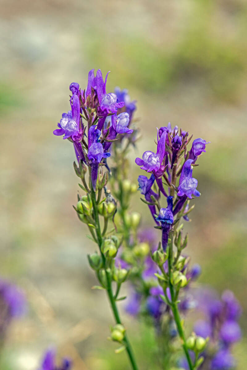
{"type": "MultiPolygon", "coordinates": [[[[246,367],[246,32],[244,0],[1,1],[0,275],[29,304],[11,325],[0,369],[35,370],[50,345],[74,359],[74,370],[128,368],[106,339],[113,320],[104,292],[91,290],[86,254],[95,247],[72,208],[73,148],[52,134],[70,108],[69,84],[85,88],[91,68],[111,71],[108,92],[118,85],[137,100],[133,164],[169,121],[211,141],[193,172],[201,197],[186,225],[187,252],[202,266],[201,283],[240,300],[234,354],[237,369],[246,367]]],[[[132,165],[131,178],[140,173],[132,165]]],[[[151,224],[139,194],[133,209],[151,224]]],[[[119,306],[147,364],[151,334],[119,306]]]]}

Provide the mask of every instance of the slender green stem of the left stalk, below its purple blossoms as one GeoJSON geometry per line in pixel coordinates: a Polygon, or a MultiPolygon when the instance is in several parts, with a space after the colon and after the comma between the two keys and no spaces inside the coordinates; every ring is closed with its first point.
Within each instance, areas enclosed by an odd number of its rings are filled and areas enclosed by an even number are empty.
{"type": "MultiPolygon", "coordinates": [[[[120,320],[120,317],[119,317],[119,312],[117,310],[116,301],[114,299],[113,291],[112,291],[112,287],[111,287],[111,276],[110,276],[109,270],[106,268],[106,258],[105,258],[104,254],[101,251],[101,245],[102,245],[102,242],[103,242],[103,238],[102,238],[101,231],[100,231],[100,221],[99,221],[99,214],[98,214],[98,209],[97,209],[97,205],[96,205],[95,192],[94,192],[92,186],[91,186],[91,199],[92,199],[92,203],[93,203],[93,212],[94,212],[94,220],[95,220],[95,223],[96,223],[96,235],[97,235],[97,239],[98,239],[98,245],[99,245],[101,257],[102,257],[102,260],[103,260],[103,266],[104,266],[104,269],[106,271],[107,294],[108,294],[111,309],[112,309],[113,315],[115,317],[116,323],[121,324],[121,320],[120,320]]],[[[128,357],[129,357],[132,369],[133,370],[138,370],[136,360],[134,358],[133,350],[131,348],[130,342],[128,341],[128,338],[127,338],[126,334],[124,335],[123,343],[126,347],[126,351],[128,353],[128,357]]]]}

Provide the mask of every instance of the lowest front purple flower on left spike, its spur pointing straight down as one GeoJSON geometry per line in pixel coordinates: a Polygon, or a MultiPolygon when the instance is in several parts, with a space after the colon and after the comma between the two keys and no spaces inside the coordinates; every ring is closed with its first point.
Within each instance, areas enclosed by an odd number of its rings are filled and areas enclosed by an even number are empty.
{"type": "Polygon", "coordinates": [[[100,137],[100,130],[95,129],[96,125],[93,125],[89,129],[89,150],[88,159],[90,160],[91,166],[91,180],[94,191],[96,190],[96,182],[98,177],[98,167],[102,158],[110,157],[110,153],[104,153],[103,145],[98,142],[100,137]]]}

